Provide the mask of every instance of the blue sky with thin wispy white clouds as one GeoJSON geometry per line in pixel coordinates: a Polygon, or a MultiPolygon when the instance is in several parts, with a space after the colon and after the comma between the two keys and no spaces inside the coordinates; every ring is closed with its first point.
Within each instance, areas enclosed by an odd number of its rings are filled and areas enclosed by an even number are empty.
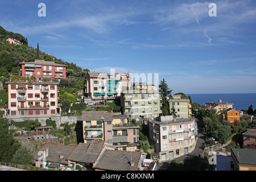
{"type": "Polygon", "coordinates": [[[172,93],[256,90],[254,0],[1,1],[0,17],[29,46],[90,71],[159,74],[172,93]]]}

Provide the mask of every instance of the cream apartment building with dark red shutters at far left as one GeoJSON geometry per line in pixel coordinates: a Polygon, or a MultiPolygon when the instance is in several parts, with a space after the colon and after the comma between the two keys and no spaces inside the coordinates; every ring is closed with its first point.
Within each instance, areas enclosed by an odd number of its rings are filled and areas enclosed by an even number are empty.
{"type": "Polygon", "coordinates": [[[8,109],[6,117],[53,116],[60,114],[58,82],[7,81],[8,109]]]}

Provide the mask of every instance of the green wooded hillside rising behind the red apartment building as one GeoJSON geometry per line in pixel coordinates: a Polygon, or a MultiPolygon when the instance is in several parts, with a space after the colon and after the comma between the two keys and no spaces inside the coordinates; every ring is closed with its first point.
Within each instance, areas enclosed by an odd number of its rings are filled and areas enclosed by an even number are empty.
{"type": "MultiPolygon", "coordinates": [[[[39,44],[40,49],[40,44],[39,44]]],[[[9,77],[9,73],[19,72],[22,61],[30,62],[36,59],[37,49],[28,46],[27,38],[23,35],[6,31],[5,28],[0,26],[0,77],[9,77]],[[13,38],[22,42],[22,45],[12,45],[6,42],[6,39],[13,38]]],[[[46,61],[55,61],[58,64],[68,65],[68,73],[81,73],[82,71],[88,71],[88,69],[82,70],[81,67],[74,63],[68,63],[61,59],[57,59],[55,56],[48,55],[48,53],[39,50],[39,59],[46,61]]]]}

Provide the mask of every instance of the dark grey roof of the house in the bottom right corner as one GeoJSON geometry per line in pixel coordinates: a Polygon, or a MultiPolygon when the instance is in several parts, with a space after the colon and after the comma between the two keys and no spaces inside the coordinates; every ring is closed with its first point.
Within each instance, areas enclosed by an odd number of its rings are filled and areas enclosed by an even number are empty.
{"type": "Polygon", "coordinates": [[[239,164],[256,166],[256,150],[244,148],[231,148],[231,151],[233,152],[234,157],[236,158],[239,164]]]}

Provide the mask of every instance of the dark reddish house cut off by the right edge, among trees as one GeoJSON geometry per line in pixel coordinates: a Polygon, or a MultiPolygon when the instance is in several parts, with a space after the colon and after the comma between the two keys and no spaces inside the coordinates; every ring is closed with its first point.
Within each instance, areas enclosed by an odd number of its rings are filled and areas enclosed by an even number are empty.
{"type": "Polygon", "coordinates": [[[248,129],[243,135],[243,148],[256,149],[256,129],[248,129]]]}

